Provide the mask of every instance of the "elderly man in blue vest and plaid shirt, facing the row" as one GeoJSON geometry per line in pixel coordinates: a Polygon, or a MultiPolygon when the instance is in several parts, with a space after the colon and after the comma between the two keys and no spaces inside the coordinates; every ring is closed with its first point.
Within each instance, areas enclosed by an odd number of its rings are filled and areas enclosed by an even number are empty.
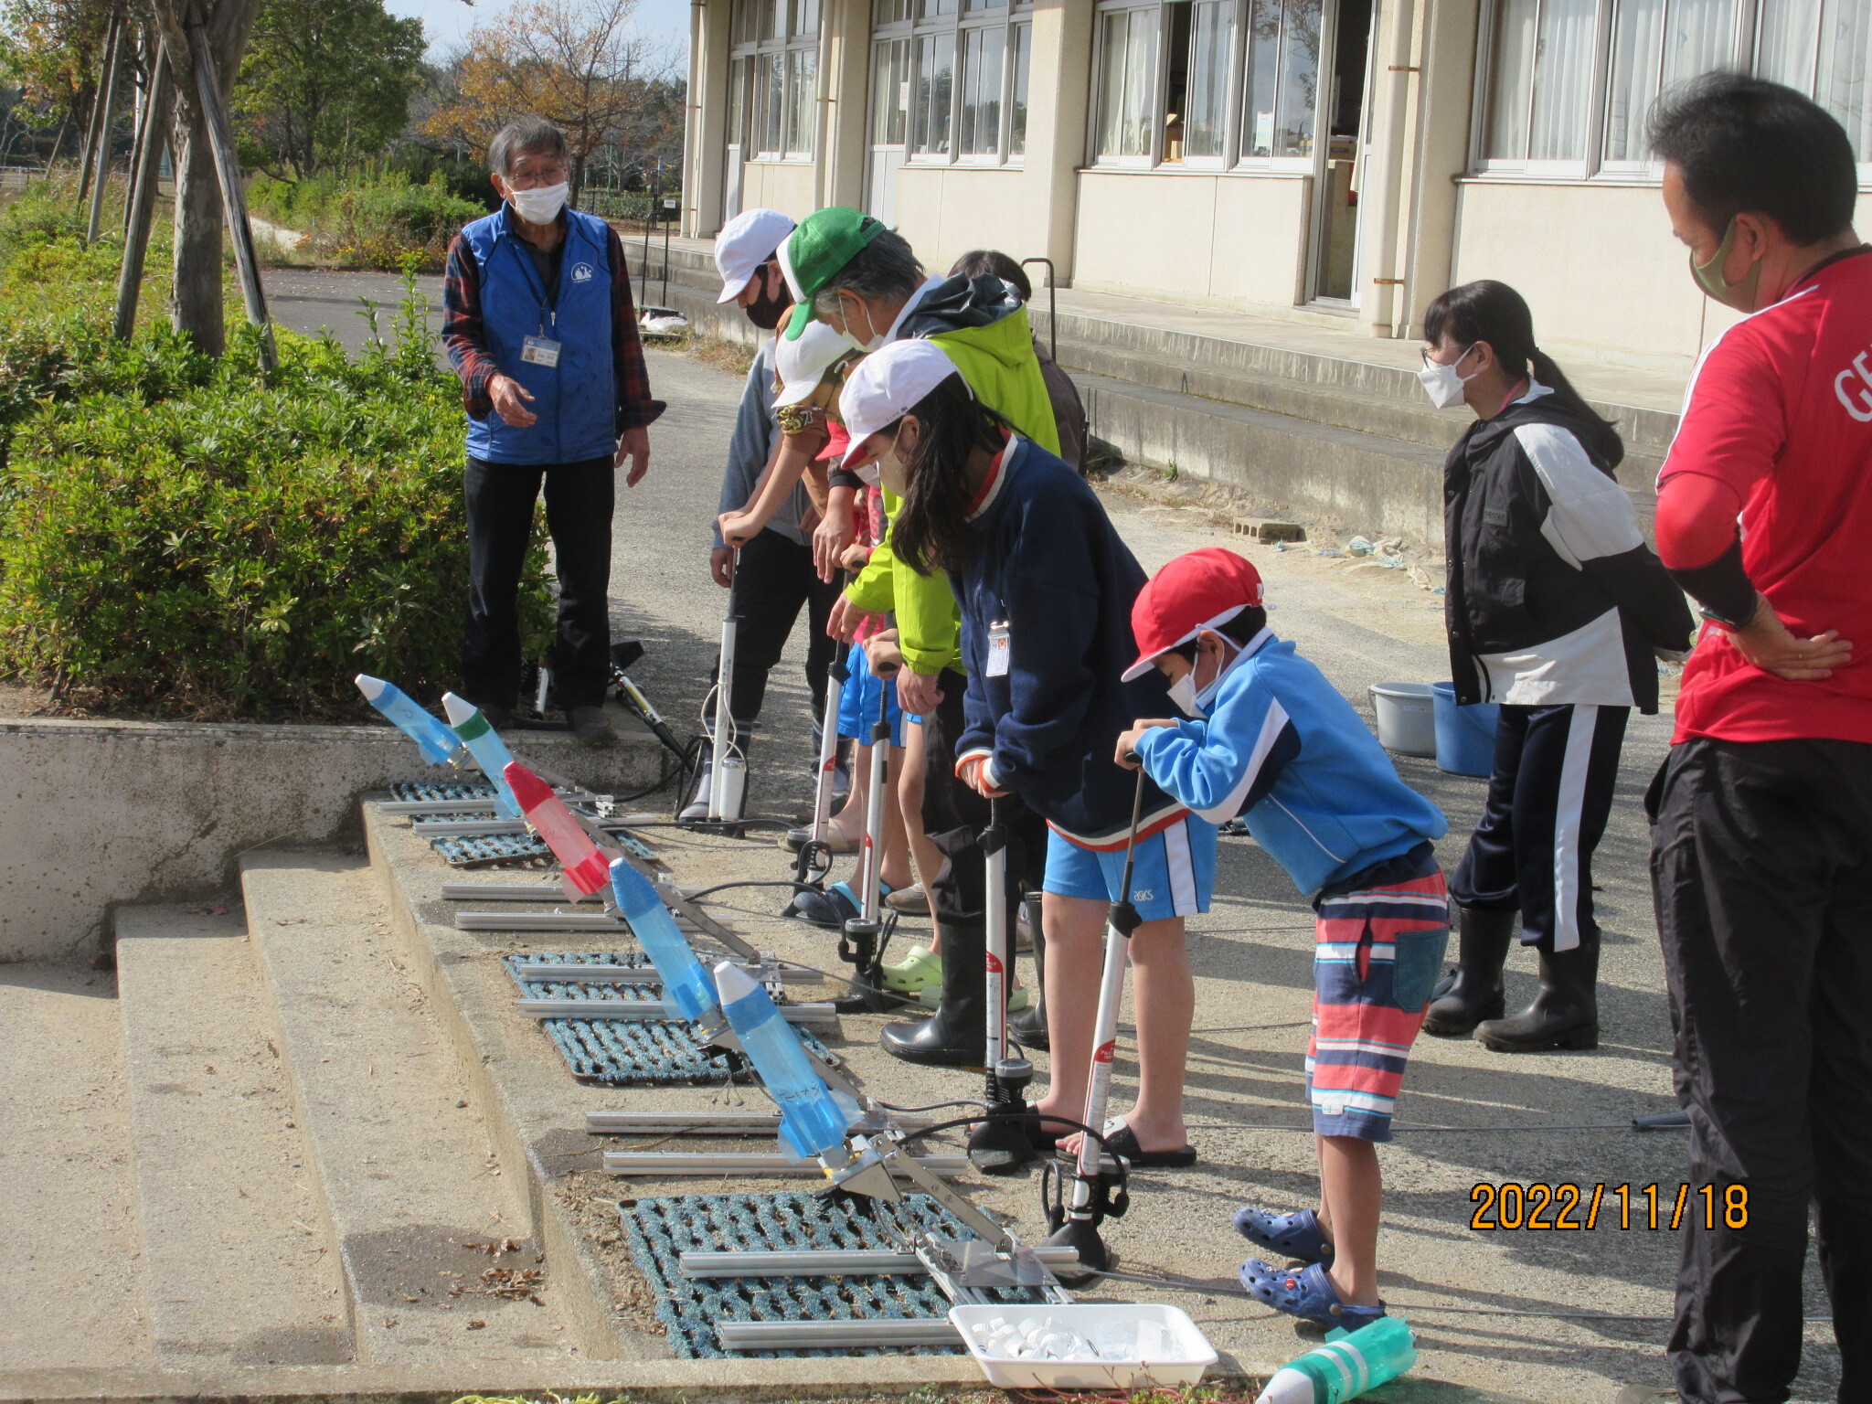
{"type": "Polygon", "coordinates": [[[520,696],[520,567],[545,487],[560,578],[552,685],[580,741],[612,745],[610,511],[650,468],[650,399],[616,230],[565,208],[565,137],[509,122],[487,150],[505,204],[449,245],[442,343],[468,412],[462,696],[494,726],[520,696]]]}

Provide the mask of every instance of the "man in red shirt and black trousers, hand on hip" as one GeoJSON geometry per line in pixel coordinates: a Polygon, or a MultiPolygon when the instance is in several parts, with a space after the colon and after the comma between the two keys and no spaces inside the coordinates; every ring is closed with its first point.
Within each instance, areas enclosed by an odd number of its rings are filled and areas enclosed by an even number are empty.
{"type": "Polygon", "coordinates": [[[1690,1116],[1670,1338],[1692,1404],[1784,1400],[1808,1207],[1842,1400],[1872,1400],[1872,249],[1853,150],[1790,88],[1730,73],[1651,122],[1664,206],[1711,298],[1659,474],[1657,547],[1702,605],[1645,797],[1690,1116]]]}

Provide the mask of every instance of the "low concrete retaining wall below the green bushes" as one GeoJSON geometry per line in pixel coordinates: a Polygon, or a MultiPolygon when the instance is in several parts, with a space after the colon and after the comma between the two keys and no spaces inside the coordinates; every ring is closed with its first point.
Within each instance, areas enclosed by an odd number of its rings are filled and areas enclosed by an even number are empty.
{"type": "MultiPolygon", "coordinates": [[[[642,734],[614,751],[511,739],[519,760],[603,792],[638,790],[661,764],[642,734]]],[[[241,852],[329,842],[358,829],[367,790],[451,775],[388,726],[4,723],[0,962],[90,953],[118,902],[225,889],[241,852]]]]}

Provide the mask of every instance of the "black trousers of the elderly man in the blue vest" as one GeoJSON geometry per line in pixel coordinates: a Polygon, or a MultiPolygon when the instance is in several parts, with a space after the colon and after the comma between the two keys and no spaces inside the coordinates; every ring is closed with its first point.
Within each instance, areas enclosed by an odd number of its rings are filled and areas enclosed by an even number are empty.
{"type": "Polygon", "coordinates": [[[520,700],[520,567],[541,481],[560,578],[552,689],[562,708],[590,708],[605,702],[610,683],[612,461],[524,464],[470,457],[462,696],[475,706],[511,708],[520,700]]]}

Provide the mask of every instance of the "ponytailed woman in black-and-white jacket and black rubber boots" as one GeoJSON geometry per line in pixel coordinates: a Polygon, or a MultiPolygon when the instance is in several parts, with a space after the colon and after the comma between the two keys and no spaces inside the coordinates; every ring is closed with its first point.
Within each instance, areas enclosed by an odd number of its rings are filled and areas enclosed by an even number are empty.
{"type": "Polygon", "coordinates": [[[1464,283],[1430,303],[1423,335],[1430,399],[1477,416],[1443,462],[1456,702],[1501,704],[1488,799],[1449,884],[1458,964],[1423,1028],[1498,1052],[1593,1048],[1593,848],[1625,721],[1657,711],[1655,655],[1690,648],[1690,610],[1614,477],[1625,446],[1535,346],[1522,296],[1464,283]],[[1541,992],[1503,1018],[1516,912],[1541,992]]]}

